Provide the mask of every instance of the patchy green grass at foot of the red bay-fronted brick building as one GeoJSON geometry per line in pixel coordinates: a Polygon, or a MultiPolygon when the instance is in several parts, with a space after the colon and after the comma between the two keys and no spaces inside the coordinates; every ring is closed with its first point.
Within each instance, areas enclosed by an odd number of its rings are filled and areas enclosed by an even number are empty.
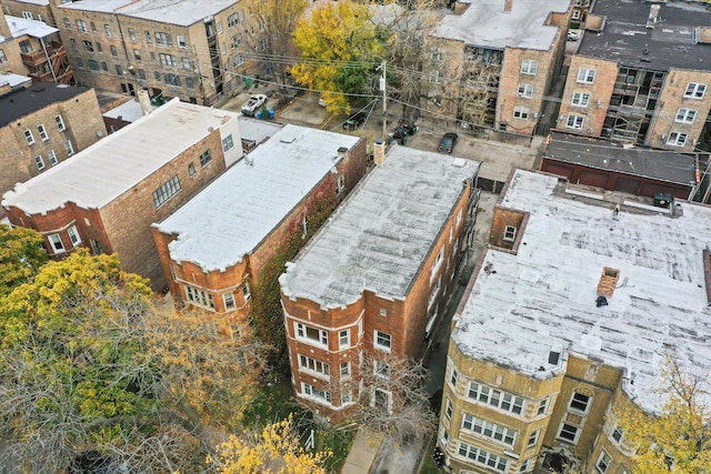
{"type": "Polygon", "coordinates": [[[246,426],[263,426],[286,418],[293,414],[294,424],[302,441],[306,442],[311,430],[316,431],[316,447],[319,451],[331,451],[333,455],[326,462],[328,472],[338,473],[346,462],[350,451],[354,431],[321,430],[313,423],[311,413],[297,404],[291,393],[291,381],[289,379],[269,377],[266,385],[260,387],[261,395],[249,407],[244,414],[246,426]]]}

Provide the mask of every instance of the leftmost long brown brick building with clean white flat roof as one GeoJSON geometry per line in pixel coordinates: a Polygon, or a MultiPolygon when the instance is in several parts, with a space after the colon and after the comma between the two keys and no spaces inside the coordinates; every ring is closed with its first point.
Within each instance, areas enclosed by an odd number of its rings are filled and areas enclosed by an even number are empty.
{"type": "Polygon", "coordinates": [[[117,253],[126,271],[162,289],[166,279],[151,223],[174,212],[242,157],[237,118],[174,99],[16,185],[2,206],[12,225],[44,235],[50,256],[61,259],[78,246],[117,253]]]}

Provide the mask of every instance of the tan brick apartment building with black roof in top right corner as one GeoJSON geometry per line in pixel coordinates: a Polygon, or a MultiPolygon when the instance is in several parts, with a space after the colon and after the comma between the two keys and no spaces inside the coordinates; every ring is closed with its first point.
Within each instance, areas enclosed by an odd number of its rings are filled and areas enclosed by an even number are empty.
{"type": "Polygon", "coordinates": [[[599,0],[572,57],[557,128],[711,150],[711,7],[599,0]]]}

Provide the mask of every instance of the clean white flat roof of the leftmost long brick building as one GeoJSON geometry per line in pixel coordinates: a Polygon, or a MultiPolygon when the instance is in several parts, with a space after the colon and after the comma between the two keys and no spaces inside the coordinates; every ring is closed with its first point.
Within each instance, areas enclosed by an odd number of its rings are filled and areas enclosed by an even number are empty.
{"type": "Polygon", "coordinates": [[[2,205],[16,205],[30,214],[67,202],[102,208],[198,143],[209,134],[209,128],[237,119],[234,112],[173,99],[70,160],[16,184],[4,194],[2,205]]]}

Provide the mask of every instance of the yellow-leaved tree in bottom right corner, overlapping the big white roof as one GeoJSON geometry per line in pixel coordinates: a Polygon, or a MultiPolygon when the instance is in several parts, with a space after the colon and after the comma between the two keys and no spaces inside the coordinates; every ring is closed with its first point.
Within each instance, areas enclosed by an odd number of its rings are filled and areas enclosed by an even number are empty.
{"type": "Polygon", "coordinates": [[[711,472],[709,377],[691,375],[667,357],[660,393],[661,413],[629,410],[620,421],[624,437],[637,447],[634,474],[702,474],[711,472]]]}

